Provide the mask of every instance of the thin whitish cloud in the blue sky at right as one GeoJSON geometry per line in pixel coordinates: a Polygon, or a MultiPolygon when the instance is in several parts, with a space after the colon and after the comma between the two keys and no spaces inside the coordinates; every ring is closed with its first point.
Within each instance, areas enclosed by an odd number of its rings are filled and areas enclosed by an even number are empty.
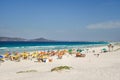
{"type": "Polygon", "coordinates": [[[97,24],[90,24],[87,26],[88,29],[113,29],[120,28],[120,21],[110,21],[97,24]]]}

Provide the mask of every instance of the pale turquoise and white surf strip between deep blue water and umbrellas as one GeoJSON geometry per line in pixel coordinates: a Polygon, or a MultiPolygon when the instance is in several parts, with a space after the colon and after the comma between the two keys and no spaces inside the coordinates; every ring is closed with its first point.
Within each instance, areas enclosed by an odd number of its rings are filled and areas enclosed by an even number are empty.
{"type": "Polygon", "coordinates": [[[78,44],[78,45],[41,45],[41,46],[17,46],[17,47],[0,47],[0,54],[9,52],[23,52],[23,51],[40,51],[40,50],[57,50],[57,49],[71,49],[71,48],[85,48],[92,46],[101,46],[106,44],[78,44]]]}

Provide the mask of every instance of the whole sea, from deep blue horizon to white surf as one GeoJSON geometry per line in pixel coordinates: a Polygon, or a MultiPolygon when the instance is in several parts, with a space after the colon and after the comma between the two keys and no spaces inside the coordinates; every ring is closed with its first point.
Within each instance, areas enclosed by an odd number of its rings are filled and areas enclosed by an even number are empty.
{"type": "Polygon", "coordinates": [[[109,42],[0,42],[0,54],[5,52],[45,51],[107,45],[109,42]]]}

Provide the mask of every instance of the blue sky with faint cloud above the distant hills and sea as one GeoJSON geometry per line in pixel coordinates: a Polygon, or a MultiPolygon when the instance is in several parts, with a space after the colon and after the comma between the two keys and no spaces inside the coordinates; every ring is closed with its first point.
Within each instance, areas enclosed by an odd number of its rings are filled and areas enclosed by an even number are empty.
{"type": "Polygon", "coordinates": [[[120,0],[0,0],[0,36],[120,41],[120,0]]]}

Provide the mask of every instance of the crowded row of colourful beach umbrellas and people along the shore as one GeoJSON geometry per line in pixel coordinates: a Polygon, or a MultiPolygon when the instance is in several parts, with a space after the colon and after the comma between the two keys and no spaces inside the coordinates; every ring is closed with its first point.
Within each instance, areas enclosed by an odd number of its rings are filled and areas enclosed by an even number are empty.
{"type": "MultiPolygon", "coordinates": [[[[114,46],[109,44],[108,45],[108,49],[106,48],[102,48],[100,50],[100,53],[102,52],[108,52],[110,51],[110,47],[111,50],[113,50],[114,46]]],[[[63,50],[51,50],[51,51],[34,51],[34,52],[6,52],[3,55],[0,55],[0,61],[4,62],[7,60],[10,61],[17,61],[20,62],[21,60],[34,60],[35,62],[52,62],[53,56],[57,56],[57,59],[62,59],[62,57],[64,55],[72,55],[75,54],[76,57],[85,57],[86,53],[90,52],[90,50],[87,49],[63,49],[63,50]]],[[[95,53],[95,50],[92,50],[93,53],[95,53]]],[[[97,56],[99,56],[99,54],[95,54],[97,56]]]]}

